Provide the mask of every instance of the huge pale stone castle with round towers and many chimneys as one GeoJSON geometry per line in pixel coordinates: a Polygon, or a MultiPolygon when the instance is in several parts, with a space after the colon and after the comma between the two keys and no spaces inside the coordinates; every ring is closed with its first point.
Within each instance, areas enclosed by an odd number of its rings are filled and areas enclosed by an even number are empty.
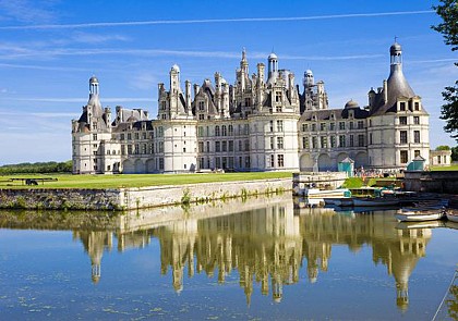
{"type": "Polygon", "coordinates": [[[270,53],[250,75],[243,50],[236,83],[220,73],[214,83],[184,82],[178,65],[169,90],[158,84],[158,114],[103,108],[99,82],[72,121],[74,174],[230,171],[335,171],[350,158],[354,168],[400,170],[429,159],[429,114],[402,73],[399,44],[389,48],[390,73],[367,94],[367,106],[350,100],[330,109],[323,82],[306,71],[303,90],[294,74],[270,53]]]}

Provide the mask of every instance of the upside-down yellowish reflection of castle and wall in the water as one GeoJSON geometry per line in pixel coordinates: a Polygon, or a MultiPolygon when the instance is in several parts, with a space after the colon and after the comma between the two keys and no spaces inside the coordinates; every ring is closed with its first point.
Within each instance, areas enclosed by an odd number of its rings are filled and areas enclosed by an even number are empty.
{"type": "Polygon", "coordinates": [[[250,305],[253,283],[276,303],[282,288],[299,282],[306,260],[309,282],[326,272],[333,245],[351,251],[372,247],[373,262],[383,263],[396,280],[397,306],[409,304],[409,276],[419,258],[425,256],[430,229],[395,229],[393,212],[337,213],[332,209],[293,207],[290,196],[241,202],[229,200],[212,206],[161,208],[122,215],[0,212],[0,226],[10,229],[72,229],[91,257],[92,279],[100,280],[104,251],[148,246],[152,237],[160,245],[160,271],[170,268],[172,286],[183,289],[184,273],[217,273],[225,283],[229,273],[239,273],[239,284],[250,305]],[[260,208],[260,203],[263,206],[260,208]],[[101,219],[100,219],[101,218],[101,219]]]}

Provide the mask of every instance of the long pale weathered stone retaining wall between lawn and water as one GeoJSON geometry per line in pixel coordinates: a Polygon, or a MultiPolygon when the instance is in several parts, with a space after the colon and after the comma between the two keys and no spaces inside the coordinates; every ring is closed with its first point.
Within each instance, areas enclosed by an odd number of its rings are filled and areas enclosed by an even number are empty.
{"type": "Polygon", "coordinates": [[[123,210],[204,202],[291,189],[290,178],[120,189],[0,189],[0,208],[123,210]]]}

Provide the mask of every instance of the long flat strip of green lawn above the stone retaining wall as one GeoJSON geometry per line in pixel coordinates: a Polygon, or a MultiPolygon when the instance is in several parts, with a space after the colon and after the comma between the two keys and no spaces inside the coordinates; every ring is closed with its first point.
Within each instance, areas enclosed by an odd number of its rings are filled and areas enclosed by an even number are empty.
{"type": "Polygon", "coordinates": [[[254,181],[267,178],[289,178],[289,172],[256,172],[256,173],[208,173],[208,174],[122,174],[122,175],[40,175],[17,174],[0,176],[0,188],[119,188],[145,187],[160,185],[183,185],[196,183],[254,181]],[[19,182],[9,182],[9,178],[39,178],[56,177],[57,182],[45,182],[37,186],[22,185],[19,182]]]}

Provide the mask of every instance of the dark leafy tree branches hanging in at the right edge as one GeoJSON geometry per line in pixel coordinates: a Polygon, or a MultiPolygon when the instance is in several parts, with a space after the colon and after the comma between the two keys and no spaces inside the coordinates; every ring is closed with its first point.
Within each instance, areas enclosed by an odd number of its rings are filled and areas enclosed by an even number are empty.
{"type": "MultiPolygon", "coordinates": [[[[444,36],[444,42],[451,46],[451,51],[458,50],[458,3],[457,0],[439,0],[442,4],[433,7],[443,22],[432,28],[444,36]]],[[[458,66],[458,63],[455,63],[458,66]]],[[[444,131],[450,133],[458,141],[458,81],[454,86],[445,87],[442,92],[444,103],[442,106],[441,119],[447,124],[444,131]],[[456,134],[455,134],[456,133],[456,134]]]]}

